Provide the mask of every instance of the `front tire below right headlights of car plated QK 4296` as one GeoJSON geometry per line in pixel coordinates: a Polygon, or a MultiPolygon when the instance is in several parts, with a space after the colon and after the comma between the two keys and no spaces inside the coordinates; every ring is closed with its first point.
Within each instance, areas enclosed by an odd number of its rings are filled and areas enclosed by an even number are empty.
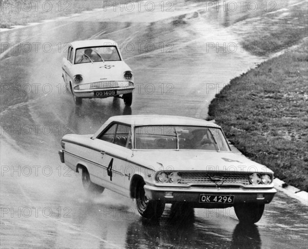
{"type": "Polygon", "coordinates": [[[240,223],[254,224],[261,219],[264,206],[264,204],[244,203],[234,206],[234,210],[240,223]]]}

